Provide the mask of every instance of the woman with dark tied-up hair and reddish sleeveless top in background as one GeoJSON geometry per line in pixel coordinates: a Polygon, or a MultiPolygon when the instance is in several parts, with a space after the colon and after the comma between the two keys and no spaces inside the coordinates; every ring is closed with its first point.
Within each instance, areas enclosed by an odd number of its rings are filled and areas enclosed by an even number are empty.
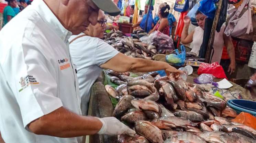
{"type": "Polygon", "coordinates": [[[152,32],[158,30],[168,36],[170,36],[170,26],[168,22],[168,15],[169,15],[170,6],[166,4],[166,6],[163,6],[160,11],[158,12],[159,20],[155,27],[149,32],[151,34],[152,32]]]}

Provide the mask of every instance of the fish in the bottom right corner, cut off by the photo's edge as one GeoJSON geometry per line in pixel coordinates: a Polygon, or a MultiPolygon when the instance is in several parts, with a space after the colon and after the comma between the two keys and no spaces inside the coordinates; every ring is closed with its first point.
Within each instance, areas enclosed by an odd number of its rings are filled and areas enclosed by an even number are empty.
{"type": "Polygon", "coordinates": [[[224,143],[256,143],[256,140],[234,132],[221,134],[220,138],[224,143]]]}

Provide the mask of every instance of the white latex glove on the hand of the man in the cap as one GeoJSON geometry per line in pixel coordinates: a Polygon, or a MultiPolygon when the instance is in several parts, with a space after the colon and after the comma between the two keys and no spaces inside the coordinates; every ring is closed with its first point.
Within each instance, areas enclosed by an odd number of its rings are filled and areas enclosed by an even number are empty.
{"type": "Polygon", "coordinates": [[[118,135],[129,134],[133,136],[136,132],[124,125],[115,117],[98,118],[102,122],[102,127],[98,134],[118,135]]]}

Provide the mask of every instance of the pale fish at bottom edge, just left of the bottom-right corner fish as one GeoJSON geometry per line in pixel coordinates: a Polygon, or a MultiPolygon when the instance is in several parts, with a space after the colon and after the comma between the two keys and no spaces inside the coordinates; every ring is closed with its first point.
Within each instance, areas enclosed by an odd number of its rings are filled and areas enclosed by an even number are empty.
{"type": "Polygon", "coordinates": [[[204,132],[195,132],[194,134],[203,138],[208,143],[223,143],[220,139],[220,135],[224,132],[220,131],[204,131],[204,132]]]}

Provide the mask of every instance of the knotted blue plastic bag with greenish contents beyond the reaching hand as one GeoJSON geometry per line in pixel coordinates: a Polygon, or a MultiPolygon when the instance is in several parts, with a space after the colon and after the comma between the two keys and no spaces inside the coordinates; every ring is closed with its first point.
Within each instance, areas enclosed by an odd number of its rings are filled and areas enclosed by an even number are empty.
{"type": "Polygon", "coordinates": [[[180,48],[181,54],[179,53],[178,49],[175,49],[174,51],[176,52],[176,54],[166,55],[166,61],[168,63],[175,64],[176,66],[184,65],[186,59],[186,49],[183,45],[181,45],[180,48]]]}

